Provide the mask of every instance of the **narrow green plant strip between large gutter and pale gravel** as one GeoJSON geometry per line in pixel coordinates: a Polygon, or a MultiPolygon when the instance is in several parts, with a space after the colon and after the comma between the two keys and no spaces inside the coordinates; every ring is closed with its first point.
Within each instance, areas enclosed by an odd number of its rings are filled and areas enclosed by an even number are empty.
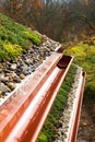
{"type": "Polygon", "coordinates": [[[37,142],[52,142],[54,135],[56,134],[56,128],[59,126],[59,119],[67,104],[68,94],[71,85],[74,81],[75,67],[71,67],[66,81],[60,87],[60,91],[56,97],[51,111],[45,122],[41,133],[38,137],[37,142]],[[45,135],[45,137],[44,137],[45,135]]]}

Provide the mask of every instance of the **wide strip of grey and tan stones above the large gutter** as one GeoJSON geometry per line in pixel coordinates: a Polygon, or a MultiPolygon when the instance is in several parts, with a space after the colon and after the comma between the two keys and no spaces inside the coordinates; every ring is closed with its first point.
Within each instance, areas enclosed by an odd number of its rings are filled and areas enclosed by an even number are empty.
{"type": "Polygon", "coordinates": [[[44,39],[40,46],[33,45],[16,60],[0,62],[0,103],[61,46],[46,36],[44,39]]]}

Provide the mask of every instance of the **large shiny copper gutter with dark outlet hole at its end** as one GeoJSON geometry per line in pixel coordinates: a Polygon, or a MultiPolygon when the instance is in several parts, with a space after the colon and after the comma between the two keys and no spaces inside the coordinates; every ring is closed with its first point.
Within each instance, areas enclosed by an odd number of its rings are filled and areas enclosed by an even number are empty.
{"type": "Polygon", "coordinates": [[[0,106],[0,142],[35,142],[73,57],[55,52],[0,106]]]}

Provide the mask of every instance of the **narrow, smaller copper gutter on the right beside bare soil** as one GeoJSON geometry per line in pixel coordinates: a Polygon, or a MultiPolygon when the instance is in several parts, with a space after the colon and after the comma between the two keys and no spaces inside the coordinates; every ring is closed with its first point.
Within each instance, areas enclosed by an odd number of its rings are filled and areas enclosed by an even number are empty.
{"type": "Polygon", "coordinates": [[[76,142],[76,134],[78,134],[79,121],[80,121],[80,115],[81,115],[84,84],[85,84],[85,72],[82,72],[82,75],[80,79],[80,84],[78,87],[76,98],[75,98],[74,105],[73,105],[67,142],[76,142]]]}

